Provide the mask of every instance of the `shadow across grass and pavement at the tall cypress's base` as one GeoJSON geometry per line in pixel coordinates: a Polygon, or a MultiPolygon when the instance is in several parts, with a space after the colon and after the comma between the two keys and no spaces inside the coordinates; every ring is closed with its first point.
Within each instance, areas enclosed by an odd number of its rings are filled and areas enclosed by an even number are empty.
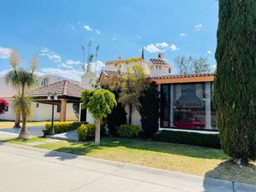
{"type": "MultiPolygon", "coordinates": [[[[218,164],[218,166],[211,171],[207,172],[205,176],[204,192],[224,191],[224,188],[233,191],[233,184],[230,182],[234,182],[235,189],[236,183],[256,184],[256,165],[251,162],[248,166],[238,166],[231,160],[226,160],[218,164]],[[230,182],[216,180],[212,181],[212,179],[209,177],[223,179],[230,182]],[[212,187],[214,187],[215,190],[212,190],[212,187]]],[[[247,187],[250,189],[251,186],[247,187]]],[[[252,187],[254,190],[248,191],[255,191],[256,186],[252,187]]],[[[240,191],[244,190],[240,189],[240,191]]]]}

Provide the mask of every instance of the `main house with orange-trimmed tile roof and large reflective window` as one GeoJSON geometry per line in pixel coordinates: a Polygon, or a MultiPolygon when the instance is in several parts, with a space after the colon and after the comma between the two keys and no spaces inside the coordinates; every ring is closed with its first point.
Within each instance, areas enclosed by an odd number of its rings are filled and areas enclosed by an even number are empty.
{"type": "MultiPolygon", "coordinates": [[[[125,72],[127,67],[142,65],[148,74],[148,81],[155,81],[160,92],[160,130],[218,131],[217,115],[212,107],[213,73],[172,75],[171,64],[160,53],[149,62],[109,61],[100,76],[101,84],[109,84],[118,77],[117,70],[125,72]]],[[[125,108],[128,112],[127,108],[125,108]]],[[[133,125],[141,125],[137,110],[131,115],[133,125]]]]}

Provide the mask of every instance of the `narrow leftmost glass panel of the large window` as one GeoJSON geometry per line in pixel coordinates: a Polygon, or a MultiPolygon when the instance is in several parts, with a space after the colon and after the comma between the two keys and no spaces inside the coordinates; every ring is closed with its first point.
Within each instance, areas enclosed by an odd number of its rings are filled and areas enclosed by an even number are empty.
{"type": "Polygon", "coordinates": [[[160,95],[160,125],[161,127],[169,127],[170,120],[170,86],[169,84],[161,85],[160,95]]]}

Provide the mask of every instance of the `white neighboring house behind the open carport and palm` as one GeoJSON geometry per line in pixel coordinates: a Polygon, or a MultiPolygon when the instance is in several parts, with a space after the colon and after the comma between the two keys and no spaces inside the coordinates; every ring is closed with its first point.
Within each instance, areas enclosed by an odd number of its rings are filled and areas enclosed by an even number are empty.
{"type": "MultiPolygon", "coordinates": [[[[79,81],[74,81],[72,79],[64,79],[54,75],[44,75],[38,77],[38,86],[42,87],[48,84],[54,84],[61,80],[68,80],[73,84],[80,84],[79,81]]],[[[10,85],[6,84],[5,78],[0,78],[0,97],[9,102],[9,110],[6,113],[0,115],[0,120],[15,120],[15,111],[12,108],[12,103],[14,101],[14,96],[17,94],[16,90],[10,85]]],[[[35,88],[37,88],[35,87],[35,88]]],[[[33,113],[29,120],[32,121],[46,121],[51,119],[51,105],[33,102],[33,113]]],[[[61,119],[61,104],[55,105],[55,120],[61,119]]],[[[77,120],[75,113],[73,112],[73,103],[67,103],[67,120],[77,120]]]]}

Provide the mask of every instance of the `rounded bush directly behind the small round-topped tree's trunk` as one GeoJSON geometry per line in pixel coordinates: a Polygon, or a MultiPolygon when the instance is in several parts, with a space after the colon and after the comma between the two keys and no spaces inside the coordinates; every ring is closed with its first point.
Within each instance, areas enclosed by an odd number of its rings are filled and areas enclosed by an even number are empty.
{"type": "MultiPolygon", "coordinates": [[[[95,137],[95,124],[87,124],[87,125],[80,125],[77,133],[80,142],[85,142],[93,139],[95,137]]],[[[106,134],[105,124],[101,124],[101,135],[104,136],[106,134]]]]}

